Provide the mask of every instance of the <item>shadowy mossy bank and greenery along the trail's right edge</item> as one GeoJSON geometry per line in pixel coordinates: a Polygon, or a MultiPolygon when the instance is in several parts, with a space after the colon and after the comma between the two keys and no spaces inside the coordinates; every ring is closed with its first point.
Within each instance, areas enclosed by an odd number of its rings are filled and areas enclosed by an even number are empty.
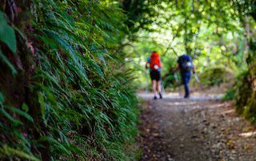
{"type": "Polygon", "coordinates": [[[234,8],[238,10],[239,18],[245,26],[244,41],[246,41],[246,49],[243,50],[243,54],[246,56],[246,69],[238,75],[234,84],[234,100],[237,112],[254,124],[256,124],[256,41],[254,34],[251,33],[254,33],[256,26],[255,7],[256,3],[254,1],[246,1],[244,3],[235,1],[234,3],[234,8]]]}

